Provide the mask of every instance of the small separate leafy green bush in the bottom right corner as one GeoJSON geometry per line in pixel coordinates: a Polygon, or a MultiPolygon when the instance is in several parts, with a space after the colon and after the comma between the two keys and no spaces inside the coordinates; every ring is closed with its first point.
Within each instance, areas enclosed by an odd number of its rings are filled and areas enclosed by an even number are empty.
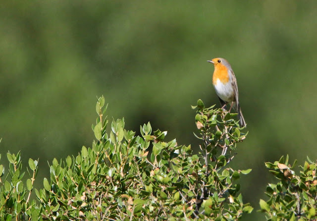
{"type": "Polygon", "coordinates": [[[269,221],[313,221],[317,219],[316,162],[308,158],[301,171],[296,174],[283,156],[274,164],[265,163],[269,171],[280,181],[266,186],[269,200],[260,200],[261,211],[269,221]]]}

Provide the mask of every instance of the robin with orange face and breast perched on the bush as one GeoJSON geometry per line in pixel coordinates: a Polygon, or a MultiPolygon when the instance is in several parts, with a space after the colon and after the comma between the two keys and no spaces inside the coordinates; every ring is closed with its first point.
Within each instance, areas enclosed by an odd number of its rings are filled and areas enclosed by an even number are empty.
{"type": "Polygon", "coordinates": [[[231,108],[235,109],[240,118],[240,125],[246,126],[246,121],[243,118],[242,111],[239,105],[239,93],[236,76],[233,73],[229,62],[221,57],[208,60],[213,63],[214,71],[212,75],[212,84],[216,91],[222,108],[225,108],[226,104],[230,104],[231,108]]]}

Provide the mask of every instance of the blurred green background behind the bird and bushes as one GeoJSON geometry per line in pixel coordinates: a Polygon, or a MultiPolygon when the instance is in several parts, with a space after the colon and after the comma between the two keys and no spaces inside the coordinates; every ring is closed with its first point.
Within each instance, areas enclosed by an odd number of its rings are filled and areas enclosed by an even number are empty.
{"type": "MultiPolygon", "coordinates": [[[[2,1],[0,153],[47,161],[90,147],[96,96],[139,132],[150,121],[179,145],[195,105],[217,104],[213,57],[233,67],[249,135],[232,167],[259,209],[272,176],[264,162],[317,158],[317,1],[2,1]]],[[[243,220],[264,220],[253,212],[243,220]]]]}

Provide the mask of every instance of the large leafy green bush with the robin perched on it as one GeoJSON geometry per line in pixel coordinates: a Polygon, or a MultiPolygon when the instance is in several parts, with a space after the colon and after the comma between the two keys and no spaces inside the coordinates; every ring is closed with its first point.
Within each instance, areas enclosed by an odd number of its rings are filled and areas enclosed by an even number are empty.
{"type": "MultiPolygon", "coordinates": [[[[240,174],[251,169],[228,167],[236,144],[245,139],[238,122],[222,109],[198,101],[196,125],[202,143],[165,142],[166,131],[153,132],[150,122],[141,136],[124,129],[124,119],[108,120],[105,98],[98,99],[92,126],[96,141],[64,161],[53,160],[51,177],[35,189],[38,161],[29,160],[31,178],[23,185],[20,153],[7,154],[9,173],[1,180],[2,220],[237,220],[253,208],[239,194],[240,174]],[[11,178],[11,180],[10,180],[11,178]],[[27,197],[26,197],[27,196],[27,197]],[[27,198],[27,199],[25,199],[27,198]]],[[[3,166],[0,166],[2,175],[3,166]],[[1,170],[2,169],[2,170],[1,170]]]]}

